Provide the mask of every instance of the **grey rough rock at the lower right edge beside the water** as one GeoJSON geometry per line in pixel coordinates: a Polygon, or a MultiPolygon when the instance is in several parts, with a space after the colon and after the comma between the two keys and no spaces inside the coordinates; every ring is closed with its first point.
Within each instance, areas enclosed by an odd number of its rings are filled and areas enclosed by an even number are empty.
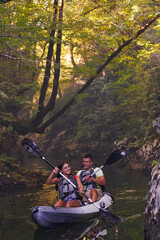
{"type": "Polygon", "coordinates": [[[160,240],[160,164],[151,172],[151,186],[145,214],[144,239],[160,240]]]}

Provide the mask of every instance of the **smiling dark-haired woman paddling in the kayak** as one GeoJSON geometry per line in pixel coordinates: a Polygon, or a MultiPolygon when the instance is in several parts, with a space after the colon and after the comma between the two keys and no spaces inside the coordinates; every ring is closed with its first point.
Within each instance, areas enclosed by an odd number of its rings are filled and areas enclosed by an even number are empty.
{"type": "Polygon", "coordinates": [[[83,192],[83,185],[78,176],[73,176],[71,167],[68,163],[62,163],[56,167],[48,177],[46,184],[56,184],[58,186],[59,200],[54,204],[55,207],[79,207],[82,205],[79,192],[83,192]],[[61,171],[63,175],[73,182],[79,189],[77,191],[71,183],[58,173],[61,171]],[[57,177],[53,178],[57,174],[57,177]]]}

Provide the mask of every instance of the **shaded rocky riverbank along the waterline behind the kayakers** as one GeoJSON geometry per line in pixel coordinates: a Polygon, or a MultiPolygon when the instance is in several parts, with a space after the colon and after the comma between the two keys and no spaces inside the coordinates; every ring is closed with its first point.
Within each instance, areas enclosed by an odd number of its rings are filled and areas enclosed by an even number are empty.
{"type": "MultiPolygon", "coordinates": [[[[75,168],[81,161],[83,154],[90,152],[94,156],[95,164],[100,166],[112,151],[121,146],[126,148],[127,154],[121,161],[116,163],[118,168],[140,171],[150,175],[153,162],[159,161],[160,143],[158,139],[139,148],[133,144],[129,147],[128,140],[123,139],[122,141],[115,141],[111,148],[106,143],[101,145],[101,148],[95,149],[92,146],[89,149],[88,146],[85,148],[83,144],[73,144],[71,139],[63,139],[62,135],[59,138],[48,142],[45,136],[41,136],[41,138],[39,135],[34,136],[35,142],[38,143],[46,158],[55,165],[60,159],[69,159],[73,168],[75,168]],[[59,145],[57,142],[61,142],[61,144],[59,145]]],[[[22,162],[26,153],[21,146],[22,137],[17,136],[17,139],[14,139],[14,144],[11,140],[13,140],[12,136],[6,140],[10,144],[7,145],[6,141],[3,144],[3,150],[5,149],[7,156],[2,153],[0,157],[0,191],[9,191],[9,189],[14,190],[15,188],[41,187],[46,180],[46,176],[42,172],[20,167],[19,163],[22,162]],[[15,156],[17,160],[11,156],[15,156]]]]}

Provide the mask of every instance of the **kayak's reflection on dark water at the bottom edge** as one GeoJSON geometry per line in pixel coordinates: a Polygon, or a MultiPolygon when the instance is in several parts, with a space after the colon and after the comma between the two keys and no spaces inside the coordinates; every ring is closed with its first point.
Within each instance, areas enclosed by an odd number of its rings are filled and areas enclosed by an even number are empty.
{"type": "Polygon", "coordinates": [[[67,224],[61,228],[52,230],[37,229],[33,240],[89,240],[104,239],[107,230],[113,227],[115,223],[106,222],[102,218],[78,223],[67,224]]]}

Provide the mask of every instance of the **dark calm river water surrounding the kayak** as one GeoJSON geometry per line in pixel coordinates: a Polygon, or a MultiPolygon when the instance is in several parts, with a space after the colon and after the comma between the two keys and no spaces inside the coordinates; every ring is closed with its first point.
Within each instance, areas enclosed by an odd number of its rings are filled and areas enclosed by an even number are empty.
{"type": "MultiPolygon", "coordinates": [[[[39,165],[34,164],[34,167],[39,165]]],[[[38,229],[30,217],[32,208],[51,205],[56,199],[55,189],[44,186],[41,190],[0,195],[0,240],[142,240],[149,178],[142,173],[117,169],[115,165],[104,169],[106,190],[115,198],[109,210],[123,222],[106,223],[100,218],[54,230],[38,229]]]]}

